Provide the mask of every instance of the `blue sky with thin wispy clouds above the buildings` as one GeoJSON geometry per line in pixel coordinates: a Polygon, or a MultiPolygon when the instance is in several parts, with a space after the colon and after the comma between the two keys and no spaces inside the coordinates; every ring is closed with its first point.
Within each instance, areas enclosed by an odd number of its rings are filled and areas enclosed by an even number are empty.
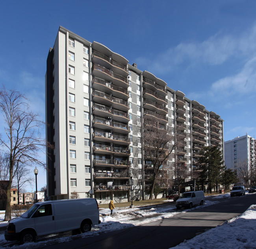
{"type": "MultiPolygon", "coordinates": [[[[45,119],[46,58],[63,26],[219,114],[225,141],[253,137],[255,13],[256,1],[245,0],[4,1],[0,83],[26,93],[45,119]]],[[[38,188],[45,184],[39,169],[38,188]]]]}

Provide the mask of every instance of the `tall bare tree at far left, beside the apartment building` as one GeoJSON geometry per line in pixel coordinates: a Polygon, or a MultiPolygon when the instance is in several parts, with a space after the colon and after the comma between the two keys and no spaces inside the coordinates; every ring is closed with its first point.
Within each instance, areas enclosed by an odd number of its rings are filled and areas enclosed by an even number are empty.
{"type": "Polygon", "coordinates": [[[40,130],[43,122],[30,111],[28,99],[21,93],[4,86],[0,92],[0,110],[5,121],[5,135],[0,137],[3,150],[9,157],[9,183],[7,186],[5,221],[11,219],[11,186],[17,168],[15,164],[34,163],[44,166],[38,152],[45,153],[45,140],[40,130]]]}

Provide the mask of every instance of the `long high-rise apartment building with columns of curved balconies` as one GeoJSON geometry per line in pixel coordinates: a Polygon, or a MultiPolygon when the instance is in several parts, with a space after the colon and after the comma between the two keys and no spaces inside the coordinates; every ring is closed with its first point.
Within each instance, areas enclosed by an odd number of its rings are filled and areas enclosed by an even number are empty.
{"type": "Polygon", "coordinates": [[[179,128],[177,165],[197,168],[205,145],[223,151],[219,115],[106,46],[59,27],[46,71],[46,139],[54,145],[46,159],[48,196],[121,202],[130,200],[131,188],[147,196],[152,168],[137,130],[146,116],[156,117],[160,129],[179,128]]]}

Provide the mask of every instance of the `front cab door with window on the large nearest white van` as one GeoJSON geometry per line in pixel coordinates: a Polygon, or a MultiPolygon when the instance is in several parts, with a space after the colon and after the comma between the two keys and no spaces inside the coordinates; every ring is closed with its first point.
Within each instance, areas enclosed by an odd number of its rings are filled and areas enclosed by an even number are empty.
{"type": "Polygon", "coordinates": [[[54,210],[51,203],[41,205],[33,214],[32,218],[35,222],[37,235],[40,236],[55,233],[54,210]]]}

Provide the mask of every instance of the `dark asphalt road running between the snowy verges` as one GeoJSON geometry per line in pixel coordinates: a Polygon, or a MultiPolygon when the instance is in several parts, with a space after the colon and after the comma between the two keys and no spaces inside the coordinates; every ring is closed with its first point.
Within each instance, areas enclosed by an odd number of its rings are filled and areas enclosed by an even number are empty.
{"type": "MultiPolygon", "coordinates": [[[[215,199],[216,200],[216,199],[215,199]]],[[[63,244],[48,245],[47,249],[100,248],[141,249],[170,248],[199,233],[221,225],[256,204],[256,194],[220,199],[221,203],[177,214],[171,218],[145,225],[82,238],[63,244]]],[[[209,248],[212,247],[209,245],[209,248]]]]}

